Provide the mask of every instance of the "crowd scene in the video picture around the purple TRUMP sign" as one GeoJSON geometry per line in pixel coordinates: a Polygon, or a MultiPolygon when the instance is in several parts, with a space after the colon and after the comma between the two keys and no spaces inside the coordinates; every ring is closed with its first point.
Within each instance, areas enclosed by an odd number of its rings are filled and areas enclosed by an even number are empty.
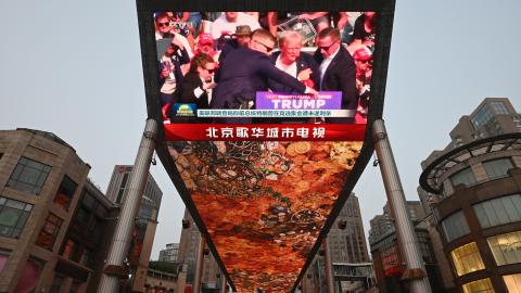
{"type": "Polygon", "coordinates": [[[164,118],[179,122],[169,114],[175,103],[249,110],[258,91],[340,91],[346,117],[293,122],[365,123],[376,20],[374,12],[155,13],[164,118]]]}

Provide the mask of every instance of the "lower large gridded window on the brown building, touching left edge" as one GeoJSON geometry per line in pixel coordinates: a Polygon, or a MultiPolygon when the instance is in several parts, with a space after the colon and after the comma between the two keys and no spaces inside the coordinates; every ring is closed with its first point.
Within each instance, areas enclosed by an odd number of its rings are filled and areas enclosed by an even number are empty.
{"type": "Polygon", "coordinates": [[[18,238],[31,209],[31,204],[0,198],[0,235],[18,238]]]}

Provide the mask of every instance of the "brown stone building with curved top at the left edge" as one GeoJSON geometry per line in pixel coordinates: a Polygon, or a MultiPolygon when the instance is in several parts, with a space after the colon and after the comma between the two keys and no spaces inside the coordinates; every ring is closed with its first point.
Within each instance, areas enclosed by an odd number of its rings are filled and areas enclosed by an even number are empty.
{"type": "MultiPolygon", "coordinates": [[[[0,292],[52,292],[58,278],[86,292],[91,273],[58,271],[69,264],[62,243],[89,170],[53,133],[0,131],[0,292]]],[[[72,267],[90,272],[90,249],[76,251],[72,267]]]]}

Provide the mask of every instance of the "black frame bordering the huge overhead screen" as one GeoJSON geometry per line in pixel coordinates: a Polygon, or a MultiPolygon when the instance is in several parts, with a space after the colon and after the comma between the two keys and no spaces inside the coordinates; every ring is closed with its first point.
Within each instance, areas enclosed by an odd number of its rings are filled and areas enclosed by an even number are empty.
{"type": "MultiPolygon", "coordinates": [[[[148,118],[153,118],[158,125],[163,125],[160,104],[160,85],[157,80],[157,59],[155,46],[155,31],[153,13],[158,11],[353,11],[365,12],[374,11],[378,13],[379,22],[377,24],[376,50],[373,53],[373,73],[371,80],[371,104],[369,114],[367,116],[367,127],[364,138],[363,149],[356,160],[353,170],[347,176],[344,187],[339,194],[336,202],[331,211],[329,218],[326,220],[322,230],[320,231],[316,243],[314,244],[309,257],[304,264],[298,273],[292,291],[295,291],[305,277],[307,268],[310,266],[314,256],[320,250],[323,239],[327,237],[331,226],[338,217],[343,205],[351,195],[353,188],[361,176],[365,167],[370,161],[374,151],[373,141],[371,138],[372,123],[382,118],[383,101],[385,94],[385,85],[389,67],[389,56],[391,51],[391,37],[394,20],[395,0],[330,0],[330,1],[313,1],[313,0],[137,0],[137,14],[141,43],[141,60],[143,66],[144,92],[147,99],[148,118]]],[[[212,251],[215,259],[223,272],[225,272],[228,283],[236,290],[231,278],[226,271],[223,260],[220,259],[217,250],[212,242],[212,239],[206,230],[202,218],[191,200],[190,192],[182,181],[174,160],[169,155],[165,132],[163,127],[157,129],[156,153],[179,195],[186,204],[186,207],[192,215],[192,218],[198,226],[201,235],[206,239],[206,243],[212,251]]]]}

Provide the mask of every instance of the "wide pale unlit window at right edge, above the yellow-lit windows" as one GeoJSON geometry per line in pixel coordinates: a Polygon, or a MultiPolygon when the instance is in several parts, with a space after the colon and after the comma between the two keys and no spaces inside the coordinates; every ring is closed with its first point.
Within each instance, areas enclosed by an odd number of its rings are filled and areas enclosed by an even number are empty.
{"type": "Polygon", "coordinates": [[[501,196],[473,205],[482,228],[521,220],[521,194],[501,196]]]}

